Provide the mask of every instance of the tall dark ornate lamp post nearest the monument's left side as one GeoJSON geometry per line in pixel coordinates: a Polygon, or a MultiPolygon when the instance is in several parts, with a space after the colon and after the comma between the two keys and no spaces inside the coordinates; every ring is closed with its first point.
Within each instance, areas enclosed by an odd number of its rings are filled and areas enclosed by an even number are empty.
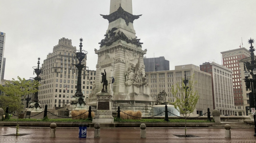
{"type": "MultiPolygon", "coordinates": [[[[78,69],[78,76],[77,76],[77,88],[76,88],[76,93],[75,93],[75,97],[76,97],[76,101],[72,101],[71,105],[80,104],[80,108],[82,108],[82,104],[85,105],[85,101],[84,101],[84,95],[82,92],[82,69],[86,67],[86,64],[82,64],[83,59],[86,59],[86,54],[88,53],[85,50],[82,50],[82,42],[83,42],[83,38],[80,38],[80,50],[77,50],[78,52],[76,52],[75,57],[79,60],[78,64],[72,64],[74,65],[77,69],[78,69]]],[[[74,59],[75,59],[74,57],[74,59]]],[[[77,106],[76,106],[77,107],[77,106]]]]}

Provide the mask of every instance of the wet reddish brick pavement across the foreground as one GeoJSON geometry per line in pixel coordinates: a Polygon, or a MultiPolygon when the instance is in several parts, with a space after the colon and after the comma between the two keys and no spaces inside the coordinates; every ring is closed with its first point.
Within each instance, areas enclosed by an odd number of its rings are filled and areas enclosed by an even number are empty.
{"type": "Polygon", "coordinates": [[[256,142],[254,128],[231,129],[231,139],[225,138],[224,128],[187,128],[195,138],[179,138],[184,128],[146,128],[146,138],[140,138],[140,128],[101,128],[100,138],[94,138],[94,128],[87,128],[87,138],[78,138],[79,128],[56,128],[56,138],[49,138],[50,128],[20,127],[19,137],[4,136],[16,133],[15,127],[0,127],[0,143],[226,143],[256,142]]]}

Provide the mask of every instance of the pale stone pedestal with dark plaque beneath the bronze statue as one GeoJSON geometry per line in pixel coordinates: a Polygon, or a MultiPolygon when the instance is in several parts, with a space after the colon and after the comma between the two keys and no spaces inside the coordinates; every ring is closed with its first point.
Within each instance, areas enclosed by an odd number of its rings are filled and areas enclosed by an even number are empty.
{"type": "Polygon", "coordinates": [[[97,93],[97,108],[93,123],[113,123],[111,103],[112,96],[109,93],[97,93]]]}

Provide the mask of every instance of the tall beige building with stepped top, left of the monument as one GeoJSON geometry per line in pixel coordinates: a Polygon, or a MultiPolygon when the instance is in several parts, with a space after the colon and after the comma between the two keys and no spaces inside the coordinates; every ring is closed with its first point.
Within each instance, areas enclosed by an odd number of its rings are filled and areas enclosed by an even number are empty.
{"type": "MultiPolygon", "coordinates": [[[[77,41],[77,44],[79,42],[77,41]]],[[[74,65],[79,62],[74,60],[76,47],[72,46],[71,39],[61,38],[53,52],[47,55],[42,64],[41,85],[39,86],[39,101],[49,109],[58,109],[70,104],[77,88],[78,70],[74,65]],[[56,108],[57,107],[57,108],[56,108]]],[[[82,61],[86,63],[86,58],[82,61]]],[[[88,98],[92,83],[95,80],[95,70],[82,71],[82,92],[88,98]]]]}

